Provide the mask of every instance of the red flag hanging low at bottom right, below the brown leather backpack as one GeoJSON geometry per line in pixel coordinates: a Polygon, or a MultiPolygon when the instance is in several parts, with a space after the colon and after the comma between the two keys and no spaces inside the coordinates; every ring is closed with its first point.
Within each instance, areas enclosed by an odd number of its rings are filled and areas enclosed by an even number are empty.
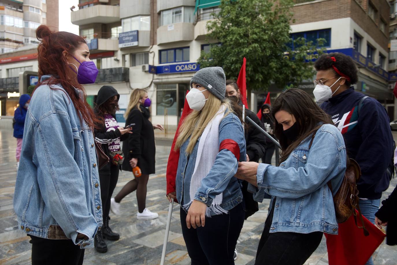
{"type": "MultiPolygon", "coordinates": [[[[346,222],[338,224],[337,235],[325,234],[330,265],[364,265],[382,244],[386,235],[364,216],[362,219],[369,236],[364,236],[362,228],[356,226],[353,215],[346,222]]],[[[358,215],[357,224],[362,226],[358,215]]]]}

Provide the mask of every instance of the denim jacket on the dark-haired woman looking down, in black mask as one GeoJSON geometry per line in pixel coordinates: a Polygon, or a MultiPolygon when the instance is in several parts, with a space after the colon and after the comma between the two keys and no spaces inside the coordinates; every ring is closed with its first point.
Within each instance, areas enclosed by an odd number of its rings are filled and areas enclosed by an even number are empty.
{"type": "Polygon", "coordinates": [[[259,164],[258,188],[249,185],[254,199],[262,202],[265,193],[276,200],[270,232],[325,232],[337,234],[333,194],[346,170],[346,147],[339,130],[324,124],[309,149],[310,135],[280,166],[259,164]]]}

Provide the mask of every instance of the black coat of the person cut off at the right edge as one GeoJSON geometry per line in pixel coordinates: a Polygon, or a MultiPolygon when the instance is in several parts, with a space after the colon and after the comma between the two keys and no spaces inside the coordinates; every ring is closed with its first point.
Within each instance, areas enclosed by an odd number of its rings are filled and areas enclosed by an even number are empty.
{"type": "Polygon", "coordinates": [[[386,226],[386,244],[397,245],[397,187],[387,199],[382,201],[382,207],[375,213],[382,222],[388,222],[386,226]]]}

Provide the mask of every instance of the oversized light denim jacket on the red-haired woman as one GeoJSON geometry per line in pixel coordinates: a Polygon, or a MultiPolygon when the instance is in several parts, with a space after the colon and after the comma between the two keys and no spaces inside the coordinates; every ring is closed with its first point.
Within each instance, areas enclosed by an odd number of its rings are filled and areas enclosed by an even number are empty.
{"type": "Polygon", "coordinates": [[[26,115],[14,211],[19,229],[29,235],[69,238],[81,248],[92,248],[102,226],[93,132],[80,123],[62,86],[51,87],[36,89],[26,115]],[[78,233],[88,240],[77,239],[78,233]]]}

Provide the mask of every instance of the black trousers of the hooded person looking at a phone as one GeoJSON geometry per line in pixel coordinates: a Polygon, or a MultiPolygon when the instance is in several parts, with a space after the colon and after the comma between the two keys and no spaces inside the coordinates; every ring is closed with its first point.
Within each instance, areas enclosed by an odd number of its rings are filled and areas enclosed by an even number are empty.
{"type": "Polygon", "coordinates": [[[112,199],[114,188],[116,188],[119,179],[120,167],[112,164],[110,166],[110,174],[99,174],[100,181],[100,197],[102,199],[103,223],[109,216],[110,199],[112,199]]]}

